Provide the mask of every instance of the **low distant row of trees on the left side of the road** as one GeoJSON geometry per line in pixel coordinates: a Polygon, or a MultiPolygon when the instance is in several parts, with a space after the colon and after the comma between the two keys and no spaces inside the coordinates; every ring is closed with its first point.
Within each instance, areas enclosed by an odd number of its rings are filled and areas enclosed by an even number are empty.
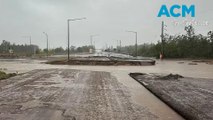
{"type": "MultiPolygon", "coordinates": [[[[90,49],[95,49],[94,46],[81,46],[81,47],[70,47],[71,53],[82,53],[82,52],[89,52],[90,49]]],[[[1,58],[18,58],[18,57],[46,57],[47,53],[49,56],[51,55],[63,55],[67,54],[67,49],[62,47],[57,47],[53,49],[40,49],[37,45],[17,45],[12,44],[9,41],[2,40],[0,44],[0,57],[1,58]]]]}

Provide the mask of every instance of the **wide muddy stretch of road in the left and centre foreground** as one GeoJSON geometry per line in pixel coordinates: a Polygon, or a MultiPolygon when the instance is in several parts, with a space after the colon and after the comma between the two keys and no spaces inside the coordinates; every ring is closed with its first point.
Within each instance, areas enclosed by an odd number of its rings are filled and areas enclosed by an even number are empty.
{"type": "Polygon", "coordinates": [[[33,70],[0,81],[1,120],[155,120],[108,72],[33,70]]]}

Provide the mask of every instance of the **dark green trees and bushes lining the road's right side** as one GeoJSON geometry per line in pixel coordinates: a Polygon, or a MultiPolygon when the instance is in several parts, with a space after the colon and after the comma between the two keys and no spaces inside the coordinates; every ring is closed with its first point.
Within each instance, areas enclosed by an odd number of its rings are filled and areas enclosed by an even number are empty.
{"type": "MultiPolygon", "coordinates": [[[[164,40],[154,44],[138,45],[138,55],[159,58],[213,58],[213,31],[207,35],[195,34],[193,26],[185,27],[186,34],[164,35],[164,40]]],[[[135,55],[135,46],[118,48],[123,53],[135,55]]]]}

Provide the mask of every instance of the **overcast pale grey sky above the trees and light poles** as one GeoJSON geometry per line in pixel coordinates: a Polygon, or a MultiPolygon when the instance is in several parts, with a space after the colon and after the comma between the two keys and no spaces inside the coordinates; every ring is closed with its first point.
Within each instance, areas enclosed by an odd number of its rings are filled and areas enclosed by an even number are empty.
{"type": "MultiPolygon", "coordinates": [[[[86,17],[86,20],[70,23],[71,45],[90,44],[89,36],[95,37],[96,47],[105,44],[116,46],[134,44],[134,34],[138,32],[138,42],[150,43],[160,39],[161,21],[167,24],[167,33],[180,34],[184,25],[174,25],[174,21],[183,22],[185,18],[158,18],[162,4],[195,4],[198,22],[208,25],[195,26],[196,33],[206,34],[213,30],[212,0],[0,0],[0,42],[2,40],[17,44],[32,43],[41,48],[46,46],[43,32],[48,33],[50,47],[67,46],[67,19],[86,17]]],[[[191,18],[187,18],[191,20],[191,18]]]]}

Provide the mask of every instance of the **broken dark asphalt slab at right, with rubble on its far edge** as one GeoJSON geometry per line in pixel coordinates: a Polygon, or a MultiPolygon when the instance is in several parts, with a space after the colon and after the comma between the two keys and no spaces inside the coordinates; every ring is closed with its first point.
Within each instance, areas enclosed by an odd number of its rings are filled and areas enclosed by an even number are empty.
{"type": "Polygon", "coordinates": [[[131,73],[157,97],[189,120],[213,119],[213,80],[181,75],[131,73]]]}

